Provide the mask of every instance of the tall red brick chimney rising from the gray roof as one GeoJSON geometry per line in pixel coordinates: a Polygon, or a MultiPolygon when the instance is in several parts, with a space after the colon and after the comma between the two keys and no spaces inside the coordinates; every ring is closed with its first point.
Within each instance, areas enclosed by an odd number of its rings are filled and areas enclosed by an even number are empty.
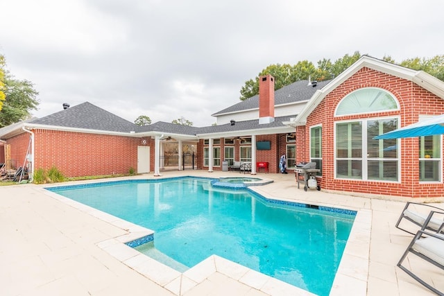
{"type": "Polygon", "coordinates": [[[275,121],[275,78],[259,77],[259,124],[275,121]]]}

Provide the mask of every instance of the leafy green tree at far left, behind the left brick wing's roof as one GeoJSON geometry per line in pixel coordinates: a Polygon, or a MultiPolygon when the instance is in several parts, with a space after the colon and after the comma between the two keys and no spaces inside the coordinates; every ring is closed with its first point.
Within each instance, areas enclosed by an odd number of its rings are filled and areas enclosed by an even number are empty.
{"type": "Polygon", "coordinates": [[[4,68],[3,58],[3,93],[5,101],[0,111],[0,128],[20,120],[31,118],[31,110],[37,110],[38,92],[32,82],[17,80],[4,68]]]}

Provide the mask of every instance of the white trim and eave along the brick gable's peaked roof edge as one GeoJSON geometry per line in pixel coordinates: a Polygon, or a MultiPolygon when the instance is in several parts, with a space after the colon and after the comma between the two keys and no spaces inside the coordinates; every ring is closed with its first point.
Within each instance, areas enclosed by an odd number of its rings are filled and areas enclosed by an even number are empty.
{"type": "Polygon", "coordinates": [[[409,69],[398,64],[392,64],[390,62],[372,58],[368,55],[363,55],[361,58],[359,58],[359,60],[348,67],[348,69],[345,69],[345,71],[343,71],[339,76],[333,80],[330,80],[330,83],[325,85],[325,87],[316,90],[314,95],[311,96],[307,105],[305,105],[304,109],[296,117],[296,121],[294,121],[292,124],[305,125],[307,117],[311,114],[311,112],[313,112],[319,103],[321,103],[327,94],[330,94],[330,92],[336,89],[336,87],[341,85],[343,82],[345,82],[345,80],[353,76],[355,73],[357,73],[357,71],[364,67],[415,82],[420,87],[432,92],[432,94],[444,98],[444,82],[438,78],[435,78],[429,73],[409,69]]]}

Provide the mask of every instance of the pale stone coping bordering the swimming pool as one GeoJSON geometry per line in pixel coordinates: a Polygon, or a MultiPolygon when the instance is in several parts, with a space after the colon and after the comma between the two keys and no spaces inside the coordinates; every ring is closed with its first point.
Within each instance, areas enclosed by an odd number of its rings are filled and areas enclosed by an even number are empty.
{"type": "MultiPolygon", "coordinates": [[[[189,176],[194,177],[194,176],[189,176]]],[[[202,177],[196,177],[202,178],[202,177]]],[[[209,178],[212,179],[212,178],[209,178]]],[[[153,180],[153,179],[142,179],[153,180]]],[[[159,178],[155,180],[160,180],[159,178]]],[[[106,181],[103,181],[106,182],[106,181]]],[[[92,182],[80,182],[80,184],[87,183],[103,183],[99,180],[92,182]]],[[[75,182],[79,184],[79,182],[75,182]]],[[[72,185],[75,185],[72,184],[72,185]]],[[[45,186],[45,188],[56,187],[45,186]]],[[[71,185],[70,185],[71,186],[71,185]]],[[[60,200],[71,207],[75,207],[80,211],[99,218],[115,227],[125,230],[127,233],[122,236],[110,238],[105,241],[96,243],[97,247],[107,252],[121,263],[127,265],[129,268],[139,272],[144,277],[154,281],[156,284],[166,288],[175,295],[183,295],[198,284],[202,283],[207,277],[214,272],[220,272],[232,279],[235,279],[250,288],[260,290],[268,295],[314,295],[307,290],[303,290],[284,281],[280,281],[268,275],[264,275],[243,265],[223,259],[220,256],[212,255],[204,259],[200,263],[194,265],[186,272],[178,272],[159,261],[155,261],[149,256],[146,256],[133,247],[130,247],[131,242],[137,240],[149,240],[153,237],[153,230],[145,227],[135,225],[111,214],[107,214],[98,209],[94,209],[80,202],[76,202],[62,195],[58,195],[52,191],[40,188],[44,194],[60,200]],[[150,238],[151,237],[151,238],[150,238]]],[[[279,202],[298,202],[298,200],[287,200],[283,198],[273,198],[267,196],[266,193],[260,191],[258,187],[249,187],[249,190],[262,195],[267,200],[276,200],[279,202]]],[[[300,201],[301,204],[307,202],[300,201]]],[[[316,203],[317,206],[332,208],[330,204],[316,203]]],[[[330,295],[347,295],[350,290],[356,292],[357,295],[366,295],[367,280],[368,280],[368,262],[370,250],[370,225],[371,225],[371,211],[368,209],[353,209],[352,207],[340,207],[338,209],[345,209],[356,211],[355,222],[350,231],[348,242],[345,245],[339,268],[334,277],[330,295]]]]}

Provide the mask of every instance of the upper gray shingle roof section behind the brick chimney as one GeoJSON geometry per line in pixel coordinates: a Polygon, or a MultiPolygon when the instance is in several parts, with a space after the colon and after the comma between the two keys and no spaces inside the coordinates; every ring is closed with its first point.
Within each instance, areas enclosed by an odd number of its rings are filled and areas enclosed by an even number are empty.
{"type": "MultiPolygon", "coordinates": [[[[291,85],[284,86],[275,91],[275,106],[299,101],[308,101],[317,89],[321,89],[330,81],[331,80],[318,82],[316,87],[308,85],[308,80],[300,80],[291,83],[291,85]]],[[[212,115],[215,116],[257,108],[259,108],[259,95],[252,96],[245,101],[241,101],[240,103],[232,105],[212,115]]]]}

